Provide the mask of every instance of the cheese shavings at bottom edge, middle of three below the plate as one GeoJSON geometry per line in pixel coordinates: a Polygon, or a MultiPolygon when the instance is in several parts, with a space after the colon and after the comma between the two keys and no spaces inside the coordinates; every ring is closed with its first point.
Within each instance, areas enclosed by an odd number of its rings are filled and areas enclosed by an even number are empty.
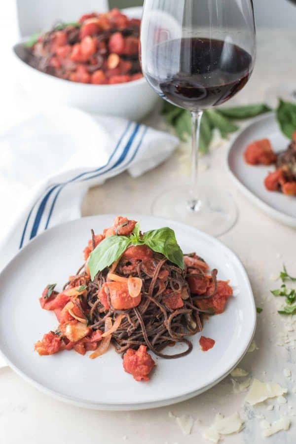
{"type": "Polygon", "coordinates": [[[242,421],[238,412],[226,418],[221,413],[218,413],[215,417],[214,424],[205,431],[204,438],[213,443],[218,443],[221,435],[239,433],[243,427],[244,421],[242,421]]]}

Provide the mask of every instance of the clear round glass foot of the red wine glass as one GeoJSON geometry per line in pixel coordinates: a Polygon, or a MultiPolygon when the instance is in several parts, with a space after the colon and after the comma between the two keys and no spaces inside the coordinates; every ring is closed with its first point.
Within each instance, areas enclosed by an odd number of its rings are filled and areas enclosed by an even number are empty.
{"type": "Polygon", "coordinates": [[[199,190],[195,210],[188,205],[188,189],[175,187],[164,191],[152,204],[153,216],[184,222],[212,236],[221,236],[237,220],[237,208],[229,193],[210,185],[199,190]]]}

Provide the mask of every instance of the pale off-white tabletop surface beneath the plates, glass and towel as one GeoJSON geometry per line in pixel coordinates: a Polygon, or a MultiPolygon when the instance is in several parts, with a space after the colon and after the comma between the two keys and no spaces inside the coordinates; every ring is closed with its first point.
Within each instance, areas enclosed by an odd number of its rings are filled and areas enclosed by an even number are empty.
{"type": "MultiPolygon", "coordinates": [[[[266,89],[295,82],[296,88],[296,32],[261,31],[258,35],[258,57],[254,74],[232,105],[261,102],[266,89]]],[[[153,122],[154,117],[148,121],[153,122]]],[[[190,444],[206,443],[202,434],[213,423],[215,415],[235,411],[245,420],[244,430],[225,437],[225,443],[260,444],[296,442],[296,382],[295,350],[276,345],[278,333],[285,329],[286,318],[277,314],[276,300],[269,290],[277,287],[271,276],[279,273],[283,262],[296,274],[296,232],[269,219],[240,194],[230,181],[225,156],[227,145],[213,150],[210,158],[202,159],[210,167],[202,173],[202,180],[231,191],[239,209],[236,225],[221,237],[242,260],[249,274],[256,304],[263,308],[258,315],[255,341],[258,350],[248,353],[240,367],[250,376],[262,381],[274,381],[288,388],[288,403],[277,409],[266,406],[243,406],[245,393],[233,392],[231,378],[226,377],[211,390],[171,407],[134,412],[101,412],[72,407],[39,393],[9,368],[0,369],[0,443],[1,444],[190,444]],[[292,371],[292,379],[284,376],[284,369],[292,371]],[[291,408],[292,407],[292,408],[291,408]],[[169,411],[178,416],[192,415],[192,433],[184,436],[169,411]],[[287,414],[291,419],[289,432],[262,438],[260,415],[269,422],[287,414]],[[268,442],[268,441],[267,441],[268,442]]],[[[185,182],[180,155],[144,176],[133,179],[127,173],[113,178],[105,185],[89,190],[83,202],[83,216],[100,213],[148,213],[159,190],[178,181],[185,182]],[[145,196],[145,201],[143,199],[145,196]],[[127,199],[128,197],[128,199],[127,199]]],[[[274,401],[276,404],[276,401],[274,401]]]]}

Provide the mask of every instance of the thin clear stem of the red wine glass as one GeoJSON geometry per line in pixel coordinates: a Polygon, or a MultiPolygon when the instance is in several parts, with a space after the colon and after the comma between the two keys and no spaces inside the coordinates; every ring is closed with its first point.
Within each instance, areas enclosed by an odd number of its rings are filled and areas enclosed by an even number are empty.
{"type": "Polygon", "coordinates": [[[199,210],[199,196],[197,186],[198,147],[200,136],[200,124],[203,111],[192,111],[192,148],[191,148],[191,183],[189,189],[188,207],[191,211],[199,210]]]}

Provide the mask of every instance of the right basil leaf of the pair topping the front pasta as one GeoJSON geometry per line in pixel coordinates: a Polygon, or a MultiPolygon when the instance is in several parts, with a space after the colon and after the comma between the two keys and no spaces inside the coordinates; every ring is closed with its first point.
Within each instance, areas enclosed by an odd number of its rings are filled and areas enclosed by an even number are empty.
{"type": "Polygon", "coordinates": [[[174,230],[164,227],[147,231],[142,240],[151,250],[163,254],[171,262],[184,269],[183,253],[177,243],[174,230]]]}

